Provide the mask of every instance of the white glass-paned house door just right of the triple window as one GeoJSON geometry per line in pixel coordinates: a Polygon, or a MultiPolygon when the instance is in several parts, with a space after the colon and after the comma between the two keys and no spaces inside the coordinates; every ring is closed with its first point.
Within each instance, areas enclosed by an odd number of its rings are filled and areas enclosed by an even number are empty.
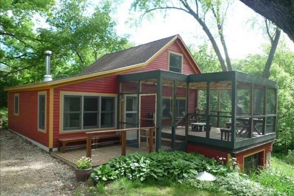
{"type": "MultiPolygon", "coordinates": [[[[124,128],[137,127],[138,97],[137,95],[124,96],[124,128]]],[[[127,131],[126,139],[128,141],[137,141],[137,131],[127,131]]]]}

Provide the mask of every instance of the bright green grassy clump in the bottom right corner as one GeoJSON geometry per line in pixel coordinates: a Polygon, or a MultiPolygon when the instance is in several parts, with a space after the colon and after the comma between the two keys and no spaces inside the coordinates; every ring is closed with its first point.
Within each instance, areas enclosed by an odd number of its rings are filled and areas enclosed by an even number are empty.
{"type": "Polygon", "coordinates": [[[294,183],[290,177],[274,169],[259,170],[257,173],[252,173],[250,179],[267,188],[286,193],[287,196],[294,193],[294,183]]]}

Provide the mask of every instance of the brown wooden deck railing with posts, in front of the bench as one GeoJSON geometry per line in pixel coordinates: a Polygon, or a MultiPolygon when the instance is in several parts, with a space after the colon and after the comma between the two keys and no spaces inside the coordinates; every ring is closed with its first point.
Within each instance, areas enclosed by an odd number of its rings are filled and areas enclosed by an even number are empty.
{"type": "MultiPolygon", "coordinates": [[[[142,129],[149,129],[149,153],[153,151],[153,131],[156,130],[156,126],[153,127],[140,127],[140,128],[127,128],[127,129],[113,129],[113,130],[105,130],[105,131],[93,131],[93,132],[86,132],[87,136],[87,157],[91,158],[91,149],[92,149],[92,139],[93,137],[99,138],[99,135],[105,133],[121,133],[122,138],[122,155],[126,154],[126,132],[127,131],[134,131],[134,130],[142,130],[142,129]]],[[[140,136],[139,136],[140,137],[140,136]]]]}

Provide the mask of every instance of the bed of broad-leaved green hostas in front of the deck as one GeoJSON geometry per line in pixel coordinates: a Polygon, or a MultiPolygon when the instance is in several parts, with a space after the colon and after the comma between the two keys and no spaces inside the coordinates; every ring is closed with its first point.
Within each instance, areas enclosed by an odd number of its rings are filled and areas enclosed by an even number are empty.
{"type": "Polygon", "coordinates": [[[165,178],[195,177],[197,172],[224,174],[230,170],[214,159],[185,152],[134,153],[111,159],[94,169],[92,178],[107,181],[125,176],[130,179],[163,180],[165,178]]]}

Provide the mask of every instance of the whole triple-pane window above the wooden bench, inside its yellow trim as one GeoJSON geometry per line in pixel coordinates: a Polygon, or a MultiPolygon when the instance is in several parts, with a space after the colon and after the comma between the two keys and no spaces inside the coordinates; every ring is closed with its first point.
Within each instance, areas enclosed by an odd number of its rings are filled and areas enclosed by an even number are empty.
{"type": "Polygon", "coordinates": [[[63,130],[115,127],[115,97],[64,95],[63,130]]]}

